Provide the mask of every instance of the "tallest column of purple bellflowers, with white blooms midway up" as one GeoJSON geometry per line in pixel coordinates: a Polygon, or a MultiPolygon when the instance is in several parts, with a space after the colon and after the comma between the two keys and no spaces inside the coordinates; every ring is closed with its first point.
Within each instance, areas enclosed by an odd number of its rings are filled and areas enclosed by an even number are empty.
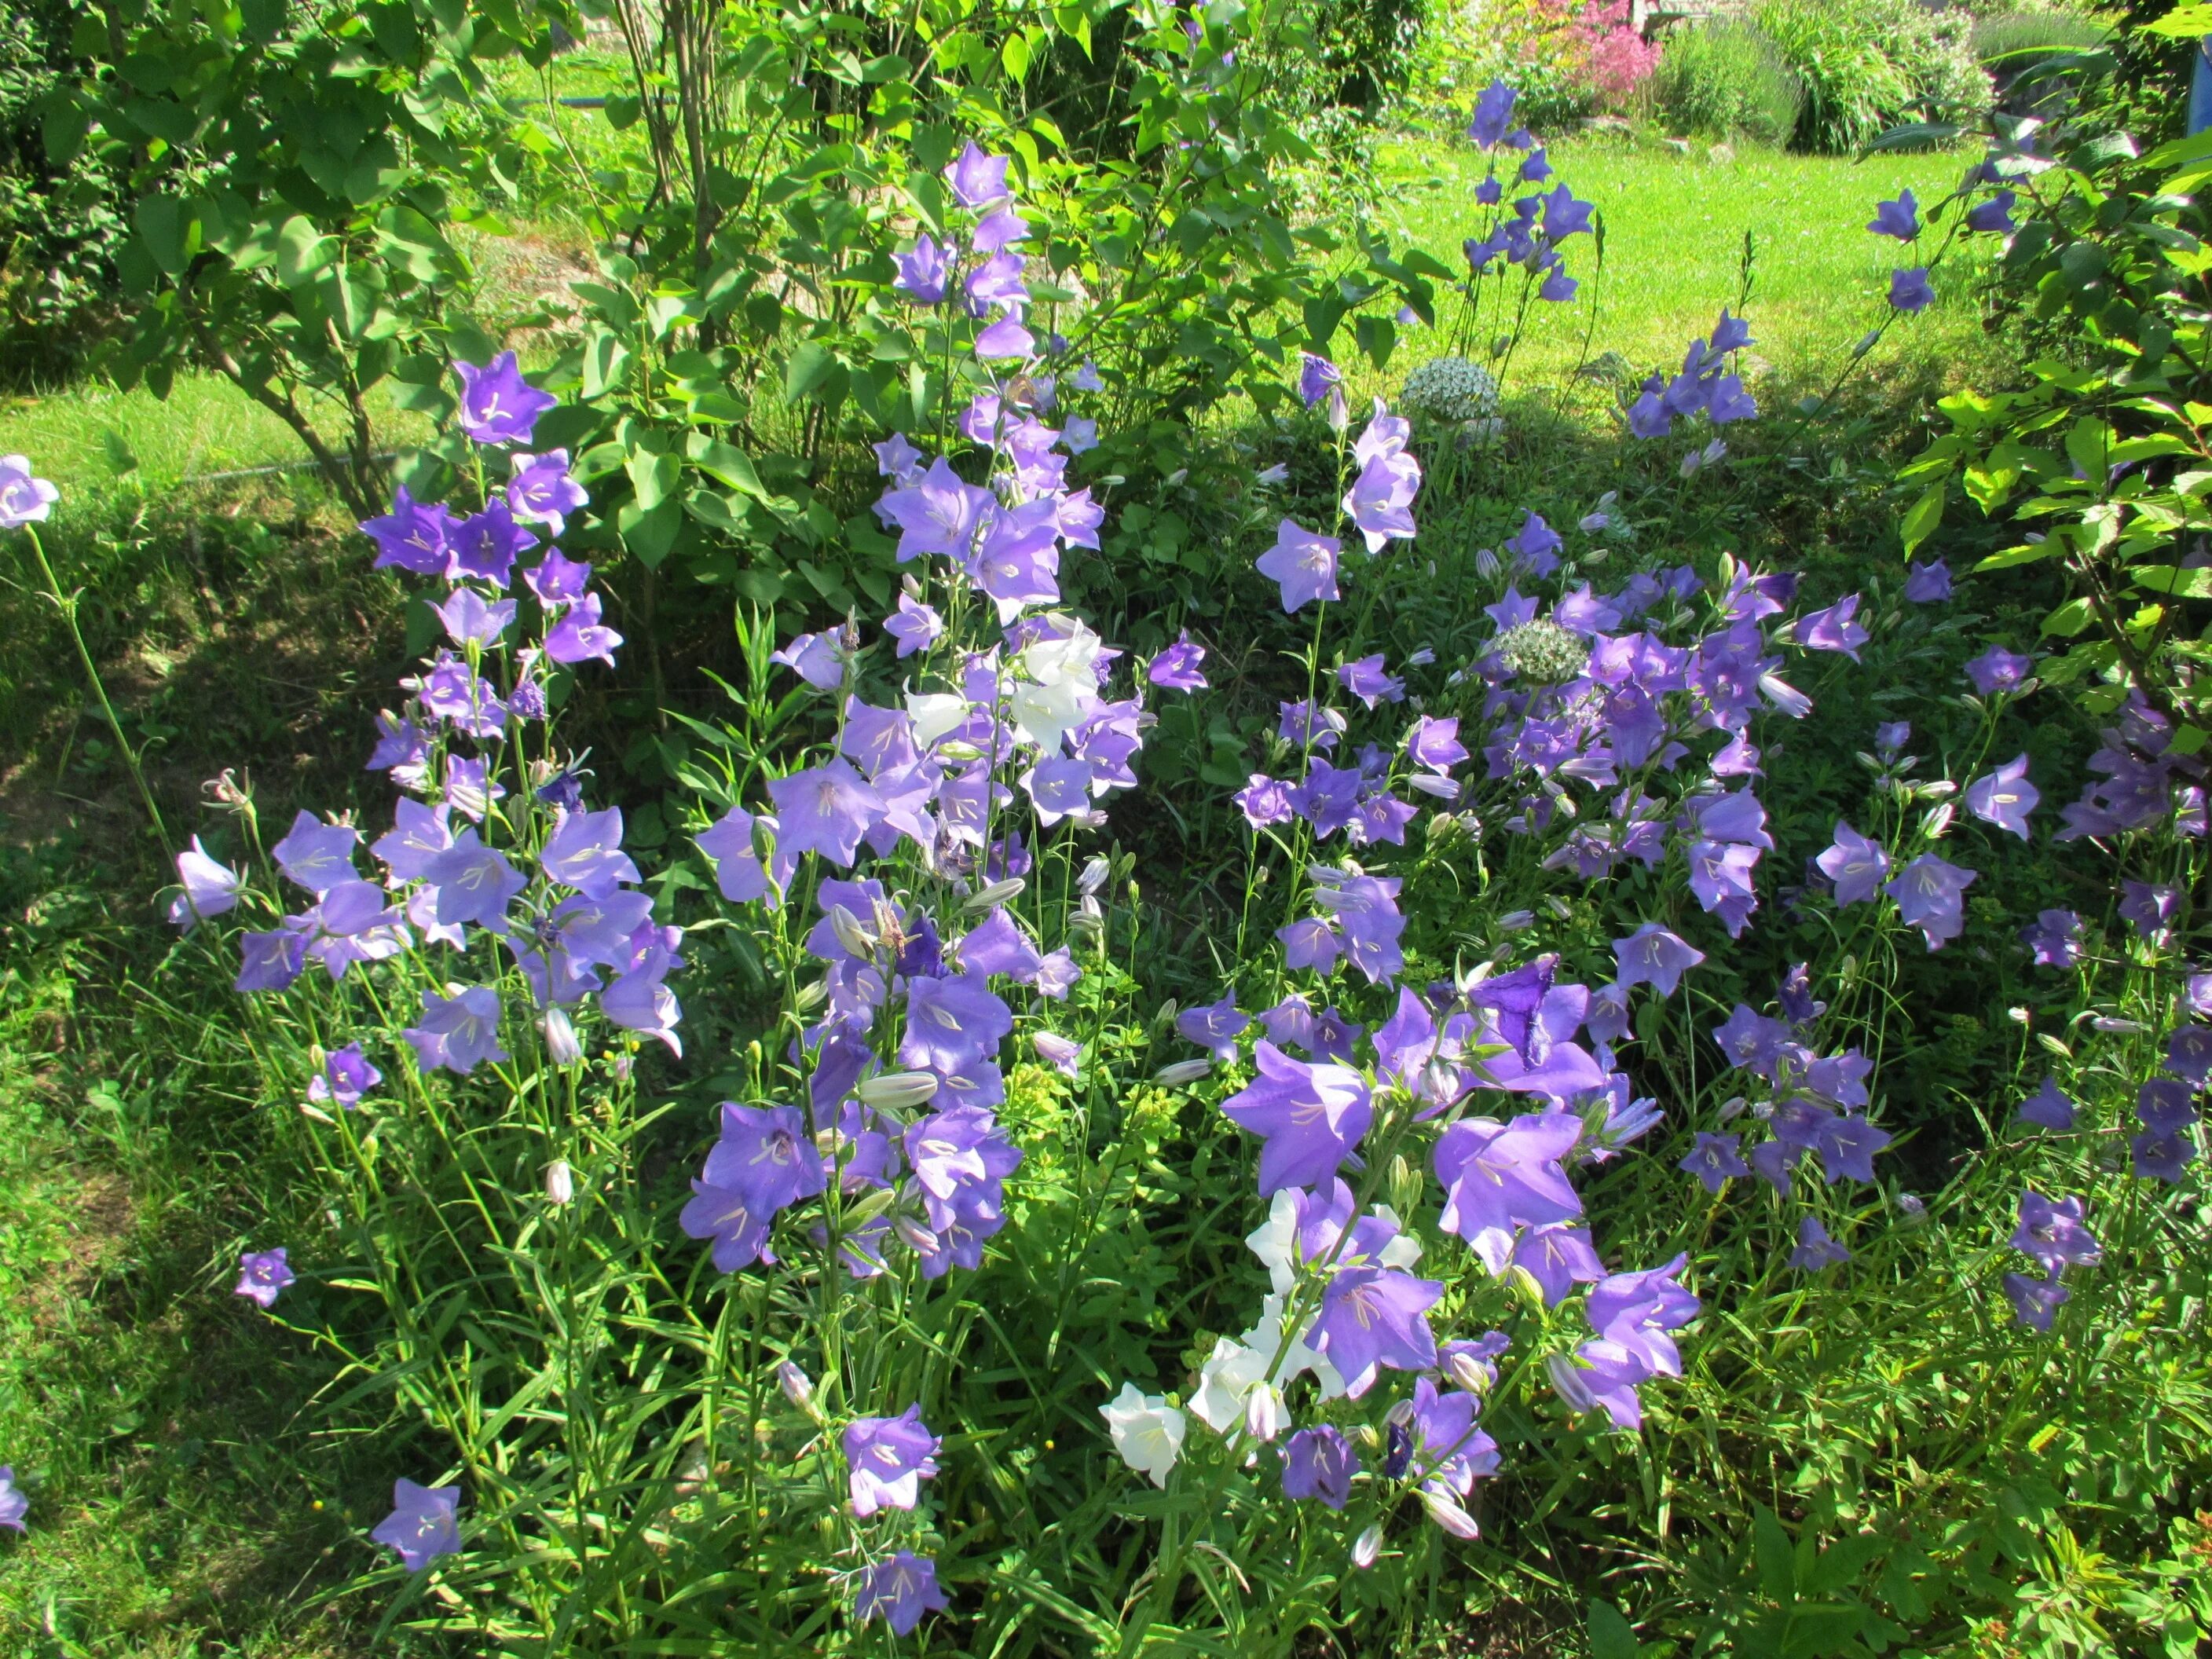
{"type": "MultiPolygon", "coordinates": [[[[1137,785],[1148,699],[1206,686],[1188,635],[1121,666],[1062,604],[1064,553],[1095,551],[1104,524],[1071,478],[1104,383],[1035,325],[1035,232],[1009,157],[971,142],[945,186],[942,221],[896,254],[931,352],[960,365],[938,453],[896,431],[876,445],[900,597],[880,633],[847,624],[774,653],[834,732],[697,836],[792,1000],[783,1066],[768,1097],[721,1106],[681,1225],[723,1272],[843,1276],[883,1310],[982,1267],[1009,1225],[1026,1155],[1000,1117],[1006,1073],[1026,1055],[1066,1077],[1086,1062],[1060,1009],[1102,945],[1113,867],[1079,847],[1137,785]],[[1064,898],[1040,905],[1053,872],[1064,898]]],[[[885,1511],[916,1509],[940,1442],[909,1402],[872,1413],[856,1389],[845,1374],[812,1385],[856,1411],[838,1440],[852,1615],[907,1635],[949,1595],[927,1531],[885,1533],[885,1511]]],[[[1113,1431],[1170,1436],[1141,1402],[1113,1431]]],[[[821,1455],[836,1455],[827,1440],[821,1455]]]]}

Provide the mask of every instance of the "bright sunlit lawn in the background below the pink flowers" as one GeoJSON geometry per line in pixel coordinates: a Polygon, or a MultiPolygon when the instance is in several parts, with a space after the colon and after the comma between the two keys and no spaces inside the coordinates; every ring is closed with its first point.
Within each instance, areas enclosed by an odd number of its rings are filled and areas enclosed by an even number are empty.
{"type": "MultiPolygon", "coordinates": [[[[1637,374],[1681,367],[1683,347],[1712,332],[1721,305],[1741,285],[1743,239],[1752,237],[1754,354],[1785,383],[1825,380],[1851,345],[1889,310],[1889,272],[1902,257],[1893,241],[1867,232],[1874,204],[1911,186],[1927,204],[1958,181],[1958,155],[1876,155],[1840,161],[1739,146],[1732,161],[1615,139],[1566,139],[1551,146],[1553,184],[1571,184],[1595,201],[1606,221],[1606,272],[1590,281],[1595,243],[1575,237],[1568,270],[1584,279],[1573,305],[1535,305],[1513,363],[1526,389],[1568,374],[1588,354],[1617,352],[1637,374]],[[1590,321],[1595,305],[1597,321],[1590,321]]],[[[1380,226],[1394,241],[1413,241],[1462,270],[1460,243],[1480,223],[1473,188],[1484,164],[1467,146],[1389,146],[1380,166],[1380,226]]],[[[1993,243],[1989,243],[1993,246],[1993,243]]],[[[1891,330],[1878,354],[1885,372],[1900,367],[1966,376],[1986,361],[1980,307],[1969,265],[1938,272],[1938,303],[1891,330]]],[[[1400,343],[1411,367],[1427,349],[1400,343]]],[[[1396,365],[1394,365],[1396,367],[1396,365]]],[[[1511,389],[1511,385],[1509,385],[1511,389]]],[[[1756,389],[1756,387],[1754,387],[1756,389]]]]}

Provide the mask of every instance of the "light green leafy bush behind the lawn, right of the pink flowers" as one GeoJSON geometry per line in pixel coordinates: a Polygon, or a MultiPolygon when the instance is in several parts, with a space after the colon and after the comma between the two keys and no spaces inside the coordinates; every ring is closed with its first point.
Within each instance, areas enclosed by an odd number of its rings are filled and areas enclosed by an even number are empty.
{"type": "Polygon", "coordinates": [[[1803,148],[1856,150],[1902,122],[1958,124],[1989,111],[1971,13],[1911,0],[1761,0],[1752,18],[1805,88],[1803,148]]]}

